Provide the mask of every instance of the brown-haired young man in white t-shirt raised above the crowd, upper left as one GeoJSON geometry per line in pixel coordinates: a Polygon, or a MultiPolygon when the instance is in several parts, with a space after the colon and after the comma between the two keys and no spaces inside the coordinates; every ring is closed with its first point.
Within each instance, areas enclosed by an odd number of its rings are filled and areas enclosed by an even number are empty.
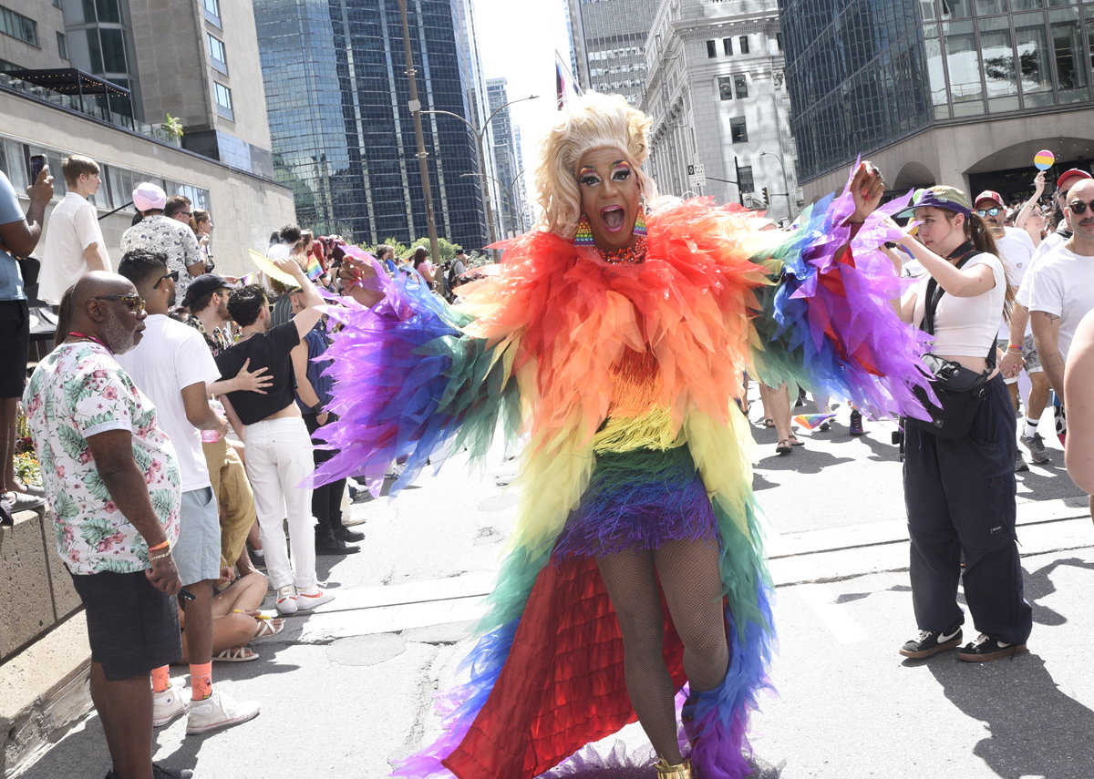
{"type": "Polygon", "coordinates": [[[38,298],[54,305],[89,270],[112,270],[98,213],[88,201],[98,191],[98,164],[73,154],[61,163],[61,173],[68,194],[46,222],[38,281],[38,298]]]}

